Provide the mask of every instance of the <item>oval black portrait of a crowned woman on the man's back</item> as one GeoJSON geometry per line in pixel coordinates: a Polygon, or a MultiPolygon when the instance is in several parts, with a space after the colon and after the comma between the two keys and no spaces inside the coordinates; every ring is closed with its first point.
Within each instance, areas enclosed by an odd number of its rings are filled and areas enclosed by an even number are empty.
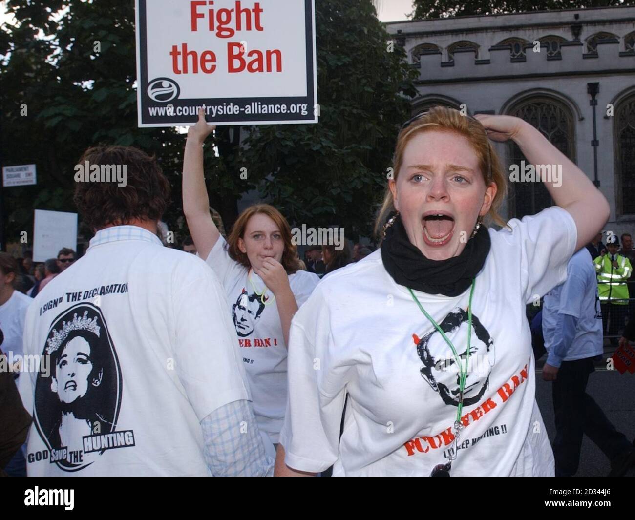
{"type": "Polygon", "coordinates": [[[81,470],[110,447],[93,449],[93,437],[114,432],[121,406],[119,361],[101,310],[81,303],[55,318],[43,355],[50,356],[51,375],[37,375],[37,431],[51,462],[81,470]]]}

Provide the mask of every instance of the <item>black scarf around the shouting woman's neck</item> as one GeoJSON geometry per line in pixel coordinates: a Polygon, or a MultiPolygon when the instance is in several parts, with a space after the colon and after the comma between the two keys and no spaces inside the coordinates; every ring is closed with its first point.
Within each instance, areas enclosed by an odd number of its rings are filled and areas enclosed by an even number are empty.
{"type": "Polygon", "coordinates": [[[398,216],[386,230],[381,250],[385,269],[399,285],[431,295],[455,297],[469,288],[472,278],[483,269],[490,247],[490,234],[481,225],[458,257],[430,260],[410,242],[398,216]]]}

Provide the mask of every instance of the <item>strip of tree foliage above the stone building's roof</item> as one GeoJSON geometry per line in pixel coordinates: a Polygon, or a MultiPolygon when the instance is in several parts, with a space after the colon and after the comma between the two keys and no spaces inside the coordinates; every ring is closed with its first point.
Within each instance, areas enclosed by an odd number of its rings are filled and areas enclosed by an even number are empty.
{"type": "Polygon", "coordinates": [[[624,0],[413,0],[414,20],[630,5],[624,0]]]}

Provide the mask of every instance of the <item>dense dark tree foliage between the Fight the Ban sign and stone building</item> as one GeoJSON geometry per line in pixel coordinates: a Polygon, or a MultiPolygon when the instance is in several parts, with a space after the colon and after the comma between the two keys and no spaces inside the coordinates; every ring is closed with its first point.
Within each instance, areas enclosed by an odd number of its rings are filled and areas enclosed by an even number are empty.
{"type": "Polygon", "coordinates": [[[262,126],[244,155],[291,222],[368,236],[416,93],[411,69],[371,2],[316,4],[319,124],[262,126]]]}

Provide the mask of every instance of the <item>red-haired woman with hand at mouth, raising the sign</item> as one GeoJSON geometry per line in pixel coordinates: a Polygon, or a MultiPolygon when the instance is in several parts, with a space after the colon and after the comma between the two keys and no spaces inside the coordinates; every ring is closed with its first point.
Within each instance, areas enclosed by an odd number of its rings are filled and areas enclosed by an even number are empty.
{"type": "Polygon", "coordinates": [[[216,272],[229,299],[258,427],[272,443],[286,407],[286,356],[291,318],[319,278],[300,269],[291,229],[276,208],[251,206],[225,241],[210,217],[203,174],[203,142],[215,127],[204,112],[190,126],[183,163],[183,209],[201,258],[216,272]]]}

